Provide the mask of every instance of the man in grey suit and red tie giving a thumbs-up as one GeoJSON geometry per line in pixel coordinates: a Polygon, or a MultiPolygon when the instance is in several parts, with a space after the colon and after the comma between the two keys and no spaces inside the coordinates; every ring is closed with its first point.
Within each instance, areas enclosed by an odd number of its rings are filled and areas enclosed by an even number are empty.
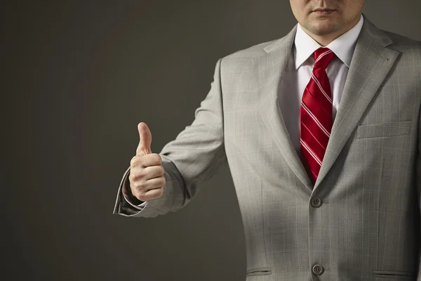
{"type": "Polygon", "coordinates": [[[421,44],[363,2],[290,0],[298,25],[218,60],[159,154],[140,123],[114,213],[177,211],[227,162],[246,280],[420,280],[421,44]]]}

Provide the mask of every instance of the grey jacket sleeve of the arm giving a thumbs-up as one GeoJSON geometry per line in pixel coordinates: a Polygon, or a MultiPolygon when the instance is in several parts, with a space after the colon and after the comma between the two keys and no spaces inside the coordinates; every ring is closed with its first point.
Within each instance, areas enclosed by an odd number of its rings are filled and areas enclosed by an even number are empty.
{"type": "Polygon", "coordinates": [[[208,181],[227,161],[220,81],[221,60],[216,63],[210,91],[194,112],[192,124],[186,126],[175,140],[167,143],[159,152],[166,179],[163,195],[149,200],[142,209],[128,203],[122,190],[130,184],[129,168],[124,173],[117,192],[114,214],[151,218],[169,211],[178,211],[199,192],[201,183],[208,181]]]}

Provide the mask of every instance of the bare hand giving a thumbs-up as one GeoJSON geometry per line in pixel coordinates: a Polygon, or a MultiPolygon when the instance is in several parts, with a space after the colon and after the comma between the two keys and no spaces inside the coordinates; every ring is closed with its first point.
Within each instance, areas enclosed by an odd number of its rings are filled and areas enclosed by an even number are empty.
{"type": "Polygon", "coordinates": [[[148,201],[162,196],[166,181],[163,177],[161,155],[152,153],[152,134],[147,124],[138,124],[139,145],[136,156],[130,162],[130,188],[134,197],[140,201],[148,201]]]}

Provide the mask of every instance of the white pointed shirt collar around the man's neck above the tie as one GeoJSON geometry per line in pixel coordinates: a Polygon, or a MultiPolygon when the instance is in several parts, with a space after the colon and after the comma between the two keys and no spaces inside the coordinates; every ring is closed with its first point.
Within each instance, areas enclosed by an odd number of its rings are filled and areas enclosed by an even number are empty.
{"type": "MultiPolygon", "coordinates": [[[[342,34],[337,39],[333,40],[326,46],[335,53],[335,55],[342,60],[345,65],[349,68],[351,65],[352,55],[354,54],[354,48],[356,44],[356,39],[359,37],[361,28],[363,27],[363,15],[359,22],[352,27],[351,30],[348,30],[342,34]]],[[[298,68],[316,51],[322,46],[317,43],[312,37],[310,37],[304,30],[302,30],[301,25],[298,23],[297,33],[295,34],[295,70],[298,68]]]]}

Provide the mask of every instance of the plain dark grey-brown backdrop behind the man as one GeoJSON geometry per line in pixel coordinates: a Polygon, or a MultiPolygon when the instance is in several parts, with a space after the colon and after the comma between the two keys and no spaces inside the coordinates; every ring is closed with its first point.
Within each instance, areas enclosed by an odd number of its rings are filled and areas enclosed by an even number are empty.
{"type": "MultiPolygon", "coordinates": [[[[420,0],[364,12],[421,40],[420,0]]],[[[176,213],[112,209],[136,125],[159,152],[192,122],[218,58],[295,25],[288,1],[8,1],[0,15],[0,279],[244,280],[227,166],[176,213]]]]}

